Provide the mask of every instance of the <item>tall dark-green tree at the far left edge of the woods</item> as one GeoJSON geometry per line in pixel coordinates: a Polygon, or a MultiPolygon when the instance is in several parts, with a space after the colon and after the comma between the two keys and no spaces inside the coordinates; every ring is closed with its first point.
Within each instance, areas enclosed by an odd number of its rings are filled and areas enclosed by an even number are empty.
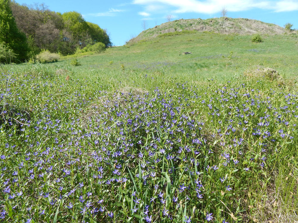
{"type": "Polygon", "coordinates": [[[26,36],[18,30],[9,0],[0,0],[0,42],[12,49],[18,60],[27,59],[26,36]]]}

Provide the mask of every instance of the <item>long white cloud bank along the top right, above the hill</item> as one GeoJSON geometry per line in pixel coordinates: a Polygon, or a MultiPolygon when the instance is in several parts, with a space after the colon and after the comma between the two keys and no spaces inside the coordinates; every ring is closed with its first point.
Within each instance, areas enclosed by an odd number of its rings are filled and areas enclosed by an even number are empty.
{"type": "Polygon", "coordinates": [[[199,12],[212,14],[220,12],[224,6],[231,12],[254,8],[269,9],[275,12],[298,10],[297,0],[134,0],[133,3],[144,5],[148,11],[150,11],[150,8],[154,9],[154,6],[171,6],[175,8],[174,12],[176,13],[199,12]]]}

